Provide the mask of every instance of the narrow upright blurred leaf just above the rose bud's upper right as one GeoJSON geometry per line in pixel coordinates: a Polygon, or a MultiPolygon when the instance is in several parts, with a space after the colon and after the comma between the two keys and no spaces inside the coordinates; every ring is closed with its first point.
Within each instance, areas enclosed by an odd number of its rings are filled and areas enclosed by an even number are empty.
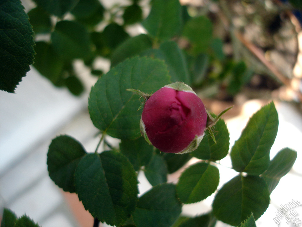
{"type": "Polygon", "coordinates": [[[198,86],[204,81],[209,67],[209,61],[208,54],[199,54],[190,59],[191,80],[193,84],[198,86]]]}

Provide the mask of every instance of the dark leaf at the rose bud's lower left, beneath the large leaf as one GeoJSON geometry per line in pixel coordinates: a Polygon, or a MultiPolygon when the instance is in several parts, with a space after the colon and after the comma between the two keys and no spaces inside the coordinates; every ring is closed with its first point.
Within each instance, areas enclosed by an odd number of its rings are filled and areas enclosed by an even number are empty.
{"type": "Polygon", "coordinates": [[[138,171],[141,166],[146,166],[150,162],[153,146],[149,145],[144,137],[139,137],[136,140],[122,140],[120,152],[129,159],[134,170],[138,171]]]}

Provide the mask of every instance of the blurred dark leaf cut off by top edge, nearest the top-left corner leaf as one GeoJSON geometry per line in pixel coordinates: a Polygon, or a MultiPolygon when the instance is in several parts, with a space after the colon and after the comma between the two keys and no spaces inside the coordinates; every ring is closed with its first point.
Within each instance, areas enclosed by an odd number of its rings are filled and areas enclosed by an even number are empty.
{"type": "Polygon", "coordinates": [[[62,18],[65,13],[76,6],[79,0],[34,0],[34,2],[50,14],[62,18]]]}

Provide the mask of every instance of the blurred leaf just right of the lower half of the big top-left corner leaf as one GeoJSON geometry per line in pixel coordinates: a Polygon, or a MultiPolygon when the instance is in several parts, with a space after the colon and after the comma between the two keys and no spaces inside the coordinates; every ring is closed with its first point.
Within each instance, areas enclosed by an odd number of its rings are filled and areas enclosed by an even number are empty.
{"type": "Polygon", "coordinates": [[[36,59],[33,66],[53,84],[62,75],[64,60],[54,51],[53,45],[39,41],[35,46],[36,59]]]}

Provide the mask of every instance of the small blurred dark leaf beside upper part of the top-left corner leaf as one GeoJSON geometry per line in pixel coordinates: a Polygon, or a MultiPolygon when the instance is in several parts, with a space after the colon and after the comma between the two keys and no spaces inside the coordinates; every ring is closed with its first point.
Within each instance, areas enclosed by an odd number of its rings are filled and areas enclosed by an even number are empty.
{"type": "Polygon", "coordinates": [[[51,19],[50,15],[40,7],[33,8],[27,13],[29,21],[33,26],[35,35],[39,33],[50,33],[51,32],[51,19]]]}

